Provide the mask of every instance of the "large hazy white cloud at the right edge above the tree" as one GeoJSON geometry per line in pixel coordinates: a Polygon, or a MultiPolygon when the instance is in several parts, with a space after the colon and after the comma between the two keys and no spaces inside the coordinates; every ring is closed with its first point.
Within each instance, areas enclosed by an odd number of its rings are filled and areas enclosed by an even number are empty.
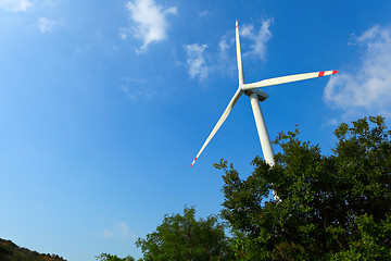
{"type": "Polygon", "coordinates": [[[342,110],[343,117],[390,115],[391,29],[376,25],[355,37],[353,44],[364,48],[361,62],[351,72],[340,72],[329,79],[325,101],[342,110]]]}

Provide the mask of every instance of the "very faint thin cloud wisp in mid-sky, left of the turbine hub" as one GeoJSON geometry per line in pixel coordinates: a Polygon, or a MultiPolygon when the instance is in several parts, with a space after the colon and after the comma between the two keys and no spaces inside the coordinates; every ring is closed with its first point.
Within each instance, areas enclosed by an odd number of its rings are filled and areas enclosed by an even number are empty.
{"type": "Polygon", "coordinates": [[[156,95],[155,90],[148,88],[147,79],[122,77],[121,80],[122,80],[121,89],[133,101],[137,101],[140,98],[150,99],[156,95]]]}

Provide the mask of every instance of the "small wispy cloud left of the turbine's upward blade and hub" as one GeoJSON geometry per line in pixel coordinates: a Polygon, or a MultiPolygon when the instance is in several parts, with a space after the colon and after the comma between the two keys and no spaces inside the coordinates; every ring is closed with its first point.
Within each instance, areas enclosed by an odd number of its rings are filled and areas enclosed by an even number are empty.
{"type": "Polygon", "coordinates": [[[184,47],[187,54],[188,72],[191,78],[198,77],[199,80],[204,80],[207,77],[209,67],[205,62],[204,51],[206,45],[192,44],[184,47]]]}

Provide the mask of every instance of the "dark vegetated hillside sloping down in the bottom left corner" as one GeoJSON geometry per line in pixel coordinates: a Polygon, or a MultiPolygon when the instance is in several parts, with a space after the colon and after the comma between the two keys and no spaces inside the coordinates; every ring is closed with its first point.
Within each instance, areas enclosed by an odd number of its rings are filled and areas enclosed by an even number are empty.
{"type": "Polygon", "coordinates": [[[0,238],[1,261],[66,261],[58,254],[39,253],[0,238]]]}

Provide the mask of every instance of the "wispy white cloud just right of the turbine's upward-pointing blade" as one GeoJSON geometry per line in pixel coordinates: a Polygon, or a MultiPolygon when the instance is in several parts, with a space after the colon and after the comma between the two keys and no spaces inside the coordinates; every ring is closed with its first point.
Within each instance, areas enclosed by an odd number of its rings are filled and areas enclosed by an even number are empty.
{"type": "Polygon", "coordinates": [[[242,38],[251,40],[250,50],[243,52],[243,55],[256,55],[261,60],[266,60],[266,44],[272,38],[269,27],[273,20],[263,21],[258,30],[254,29],[254,25],[243,25],[240,28],[240,35],[242,38]]]}

